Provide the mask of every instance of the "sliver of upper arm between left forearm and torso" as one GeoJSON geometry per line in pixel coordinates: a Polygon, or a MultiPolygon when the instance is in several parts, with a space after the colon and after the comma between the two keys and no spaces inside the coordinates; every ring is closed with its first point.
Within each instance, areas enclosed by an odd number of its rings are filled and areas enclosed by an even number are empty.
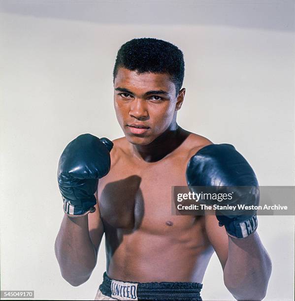
{"type": "Polygon", "coordinates": [[[88,229],[91,241],[95,247],[96,253],[98,254],[98,248],[104,233],[104,229],[98,208],[97,192],[95,193],[95,197],[97,199],[97,204],[94,206],[96,211],[88,214],[88,229]]]}

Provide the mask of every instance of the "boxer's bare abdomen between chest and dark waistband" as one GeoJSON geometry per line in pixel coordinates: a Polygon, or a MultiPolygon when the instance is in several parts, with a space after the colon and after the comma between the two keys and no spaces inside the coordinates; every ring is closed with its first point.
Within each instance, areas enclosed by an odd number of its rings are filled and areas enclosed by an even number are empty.
{"type": "Polygon", "coordinates": [[[213,248],[199,222],[191,229],[169,229],[162,235],[142,229],[131,233],[114,230],[111,235],[105,233],[110,278],[141,283],[202,282],[213,248]]]}

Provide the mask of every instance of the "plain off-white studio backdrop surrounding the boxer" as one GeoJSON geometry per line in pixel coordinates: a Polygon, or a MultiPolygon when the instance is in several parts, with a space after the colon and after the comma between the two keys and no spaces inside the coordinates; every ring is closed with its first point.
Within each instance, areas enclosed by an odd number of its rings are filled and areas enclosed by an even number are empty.
{"type": "MultiPolygon", "coordinates": [[[[66,283],[54,254],[64,215],[57,163],[82,133],[122,136],[112,70],[119,47],[156,37],[184,53],[179,124],[233,144],[261,185],[294,185],[294,2],[283,0],[0,1],[1,290],[94,299],[91,278],[66,283]]],[[[279,201],[279,200],[278,200],[279,201]]],[[[265,300],[294,300],[294,216],[261,216],[273,263],[265,300]]],[[[181,254],[179,254],[181,256],[181,254]]],[[[156,272],[156,271],[155,271],[156,272]]],[[[204,300],[233,300],[214,254],[204,300]]]]}

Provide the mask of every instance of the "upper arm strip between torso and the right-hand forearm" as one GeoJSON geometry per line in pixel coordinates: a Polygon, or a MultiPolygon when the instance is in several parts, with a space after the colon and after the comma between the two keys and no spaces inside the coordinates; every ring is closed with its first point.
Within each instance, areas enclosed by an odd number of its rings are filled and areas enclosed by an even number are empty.
{"type": "Polygon", "coordinates": [[[205,214],[205,228],[208,239],[212,244],[222,268],[225,268],[229,254],[229,237],[225,227],[220,227],[218,219],[212,212],[205,214]]]}

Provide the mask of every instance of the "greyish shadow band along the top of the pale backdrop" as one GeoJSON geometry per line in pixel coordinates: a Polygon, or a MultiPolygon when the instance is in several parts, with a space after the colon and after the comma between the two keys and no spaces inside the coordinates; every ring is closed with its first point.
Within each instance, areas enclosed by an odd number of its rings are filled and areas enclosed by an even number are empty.
{"type": "Polygon", "coordinates": [[[2,0],[0,11],[111,24],[295,30],[293,0],[2,0]]]}

